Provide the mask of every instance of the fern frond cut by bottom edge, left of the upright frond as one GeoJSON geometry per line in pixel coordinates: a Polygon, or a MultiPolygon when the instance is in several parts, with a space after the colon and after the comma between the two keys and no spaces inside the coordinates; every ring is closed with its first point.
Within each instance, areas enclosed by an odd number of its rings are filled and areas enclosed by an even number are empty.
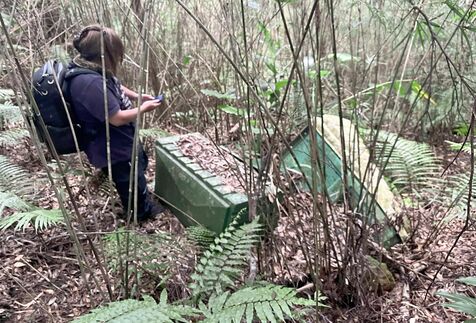
{"type": "Polygon", "coordinates": [[[143,301],[127,299],[99,307],[92,310],[91,313],[77,318],[73,323],[190,322],[189,318],[195,317],[199,313],[200,311],[184,305],[166,304],[162,301],[157,304],[152,297],[144,296],[143,301]]]}

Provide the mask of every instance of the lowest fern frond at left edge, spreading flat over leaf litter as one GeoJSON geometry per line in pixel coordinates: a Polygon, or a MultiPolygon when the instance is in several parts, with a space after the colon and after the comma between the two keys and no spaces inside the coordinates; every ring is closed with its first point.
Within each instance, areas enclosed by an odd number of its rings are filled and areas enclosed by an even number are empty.
{"type": "Polygon", "coordinates": [[[13,227],[14,230],[24,230],[30,224],[33,224],[35,230],[44,230],[52,225],[63,223],[63,214],[61,210],[44,210],[36,208],[31,211],[14,213],[0,220],[0,230],[6,230],[13,227]]]}

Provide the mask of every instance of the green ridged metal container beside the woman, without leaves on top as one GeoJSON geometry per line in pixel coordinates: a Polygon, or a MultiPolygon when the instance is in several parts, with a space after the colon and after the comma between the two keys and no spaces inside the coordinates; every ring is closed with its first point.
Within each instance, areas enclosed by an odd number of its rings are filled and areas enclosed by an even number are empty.
{"type": "MultiPolygon", "coordinates": [[[[206,140],[199,134],[192,135],[206,140]]],[[[183,225],[203,225],[220,233],[241,209],[248,207],[248,197],[230,192],[219,177],[184,156],[177,146],[181,137],[156,142],[155,193],[183,225]]],[[[244,212],[240,221],[246,220],[244,212]]]]}

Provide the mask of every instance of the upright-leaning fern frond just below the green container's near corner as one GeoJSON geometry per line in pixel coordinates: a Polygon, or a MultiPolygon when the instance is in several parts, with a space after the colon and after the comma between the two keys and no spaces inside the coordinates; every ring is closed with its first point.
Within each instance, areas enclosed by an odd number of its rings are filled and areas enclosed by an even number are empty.
{"type": "Polygon", "coordinates": [[[226,287],[233,285],[242,272],[250,249],[260,240],[262,224],[258,219],[238,227],[238,217],[225,232],[215,239],[210,248],[200,258],[195,273],[191,276],[192,294],[220,294],[226,287]]]}

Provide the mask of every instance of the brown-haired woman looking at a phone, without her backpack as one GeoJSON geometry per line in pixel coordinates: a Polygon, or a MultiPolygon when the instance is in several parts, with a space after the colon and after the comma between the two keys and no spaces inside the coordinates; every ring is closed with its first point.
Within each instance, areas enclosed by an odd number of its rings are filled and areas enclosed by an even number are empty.
{"type": "MultiPolygon", "coordinates": [[[[104,65],[106,67],[106,98],[109,120],[110,156],[112,179],[119,193],[122,206],[127,214],[129,202],[133,206],[133,196],[129,198],[131,156],[138,108],[131,100],[139,95],[121,85],[116,78],[119,65],[124,59],[124,45],[116,32],[110,28],[91,25],[75,37],[73,45],[79,55],[73,59],[70,68],[79,66],[98,72],[75,76],[69,84],[71,105],[84,132],[85,153],[92,165],[108,172],[106,148],[106,116],[104,109],[104,82],[101,61],[101,32],[104,41],[104,65]],[[129,201],[130,200],[130,201],[129,201]]],[[[141,113],[150,112],[160,106],[160,101],[151,95],[142,95],[141,113]]],[[[138,150],[137,219],[147,220],[163,211],[150,200],[145,179],[147,155],[142,147],[138,150]]],[[[134,176],[134,175],[132,175],[134,176]]],[[[134,178],[134,177],[132,177],[134,178]]],[[[131,207],[131,209],[133,209],[131,207]]]]}

